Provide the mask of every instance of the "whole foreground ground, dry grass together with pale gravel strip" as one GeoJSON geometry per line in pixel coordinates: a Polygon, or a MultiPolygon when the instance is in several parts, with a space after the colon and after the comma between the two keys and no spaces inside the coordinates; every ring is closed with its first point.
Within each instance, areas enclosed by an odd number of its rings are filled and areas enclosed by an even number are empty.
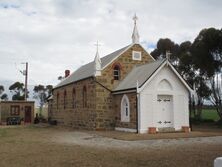
{"type": "Polygon", "coordinates": [[[222,137],[119,140],[58,127],[0,128],[0,166],[206,167],[222,156],[222,137]]]}

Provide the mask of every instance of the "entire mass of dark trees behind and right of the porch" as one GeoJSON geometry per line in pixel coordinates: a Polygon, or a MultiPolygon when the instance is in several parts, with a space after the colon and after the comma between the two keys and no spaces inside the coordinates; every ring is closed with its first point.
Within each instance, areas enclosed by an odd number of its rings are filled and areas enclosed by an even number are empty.
{"type": "Polygon", "coordinates": [[[201,118],[204,99],[211,100],[222,120],[222,29],[208,28],[200,31],[193,43],[180,45],[169,38],[159,39],[151,52],[155,59],[165,58],[171,52],[170,62],[197,92],[197,112],[201,118]]]}

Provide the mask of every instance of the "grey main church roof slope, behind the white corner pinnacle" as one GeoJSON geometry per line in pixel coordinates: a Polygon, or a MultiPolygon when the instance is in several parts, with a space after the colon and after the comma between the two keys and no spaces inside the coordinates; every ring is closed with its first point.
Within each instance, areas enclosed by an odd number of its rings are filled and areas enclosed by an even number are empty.
{"type": "MultiPolygon", "coordinates": [[[[101,62],[102,62],[102,69],[109,64],[112,60],[114,60],[116,57],[119,56],[119,54],[121,54],[122,52],[124,52],[128,47],[130,47],[132,45],[127,45],[105,57],[101,58],[101,62]]],[[[65,78],[64,80],[62,80],[58,85],[56,85],[54,88],[58,88],[88,77],[91,77],[94,75],[94,61],[85,64],[83,66],[81,66],[79,69],[77,69],[75,72],[73,72],[70,76],[68,76],[67,78],[65,78]]]]}

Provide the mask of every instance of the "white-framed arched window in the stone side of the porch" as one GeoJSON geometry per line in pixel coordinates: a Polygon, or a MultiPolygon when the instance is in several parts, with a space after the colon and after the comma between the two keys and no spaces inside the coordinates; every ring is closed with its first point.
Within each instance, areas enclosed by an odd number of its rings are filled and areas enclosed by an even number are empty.
{"type": "Polygon", "coordinates": [[[130,103],[126,95],[121,100],[121,122],[130,121],[130,103]]]}

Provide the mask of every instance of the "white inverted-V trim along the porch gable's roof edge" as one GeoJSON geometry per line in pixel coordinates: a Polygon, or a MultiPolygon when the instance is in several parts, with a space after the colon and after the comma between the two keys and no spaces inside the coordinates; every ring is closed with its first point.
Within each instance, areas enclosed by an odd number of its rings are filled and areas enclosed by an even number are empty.
{"type": "Polygon", "coordinates": [[[140,93],[165,65],[170,66],[170,68],[176,74],[176,76],[180,79],[180,81],[185,85],[185,87],[189,90],[189,92],[192,93],[193,90],[189,87],[189,85],[187,85],[185,80],[180,76],[180,74],[175,70],[175,68],[170,64],[170,62],[168,60],[165,60],[165,62],[154,72],[154,74],[145,82],[145,84],[143,84],[143,86],[141,88],[138,88],[138,92],[140,93]]]}

